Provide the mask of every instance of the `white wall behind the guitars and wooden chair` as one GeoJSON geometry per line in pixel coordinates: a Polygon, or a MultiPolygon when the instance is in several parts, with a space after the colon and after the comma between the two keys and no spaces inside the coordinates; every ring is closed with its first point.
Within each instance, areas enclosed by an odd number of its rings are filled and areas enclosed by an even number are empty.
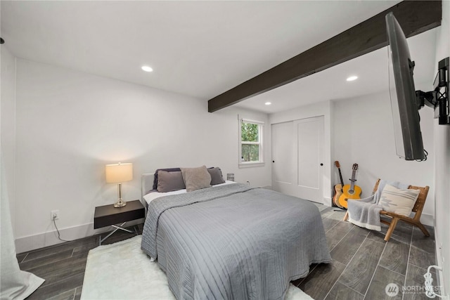
{"type": "MultiPolygon", "coordinates": [[[[334,159],[339,160],[344,183],[349,183],[352,165],[359,165],[356,184],[361,197],[368,197],[377,178],[411,185],[430,186],[422,222],[432,226],[434,205],[433,110],[420,111],[420,130],[428,151],[425,162],[399,159],[395,151],[390,95],[388,91],[336,101],[333,105],[334,159]]],[[[334,182],[339,182],[335,169],[334,182]]]]}

